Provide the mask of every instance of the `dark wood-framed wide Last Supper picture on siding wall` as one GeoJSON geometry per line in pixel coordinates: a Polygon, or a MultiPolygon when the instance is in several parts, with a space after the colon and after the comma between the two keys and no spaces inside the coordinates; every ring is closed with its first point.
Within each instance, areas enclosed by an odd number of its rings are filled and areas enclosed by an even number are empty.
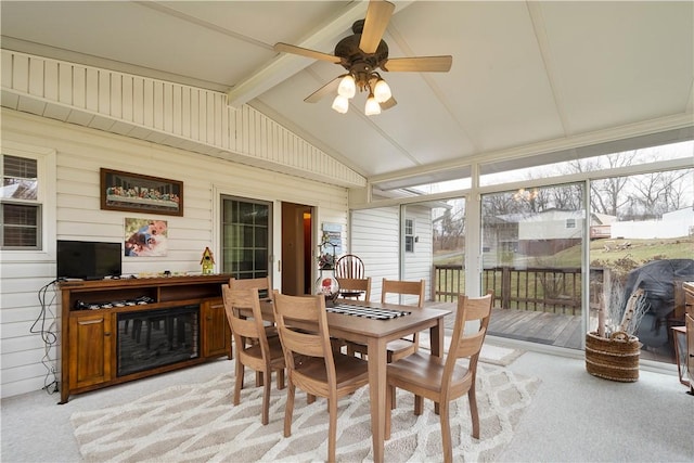
{"type": "Polygon", "coordinates": [[[101,208],[183,215],[183,182],[101,169],[101,208]]]}

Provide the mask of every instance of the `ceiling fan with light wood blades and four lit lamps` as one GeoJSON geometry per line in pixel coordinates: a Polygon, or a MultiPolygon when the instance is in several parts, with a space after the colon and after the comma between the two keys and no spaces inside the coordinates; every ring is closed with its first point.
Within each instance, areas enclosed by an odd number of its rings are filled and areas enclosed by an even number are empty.
{"type": "Polygon", "coordinates": [[[359,88],[360,91],[369,92],[364,113],[372,116],[381,114],[381,110],[396,105],[390,88],[376,69],[414,73],[450,70],[453,62],[451,55],[388,57],[388,44],[382,38],[394,10],[395,4],[388,1],[371,0],[367,17],[355,22],[351,26],[354,34],[337,42],[334,54],[282,42],[274,44],[275,51],[329,61],[347,69],[347,74],[337,76],[304,101],[316,103],[329,93],[337,91],[332,107],[344,114],[349,108],[349,100],[359,88]]]}

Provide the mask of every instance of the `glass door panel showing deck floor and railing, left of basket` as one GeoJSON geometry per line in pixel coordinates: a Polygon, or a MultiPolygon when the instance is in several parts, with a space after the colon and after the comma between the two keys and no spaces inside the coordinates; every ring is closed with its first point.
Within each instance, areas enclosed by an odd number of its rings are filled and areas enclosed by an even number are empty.
{"type": "Polygon", "coordinates": [[[583,184],[481,197],[483,288],[493,290],[489,334],[580,349],[583,184]]]}

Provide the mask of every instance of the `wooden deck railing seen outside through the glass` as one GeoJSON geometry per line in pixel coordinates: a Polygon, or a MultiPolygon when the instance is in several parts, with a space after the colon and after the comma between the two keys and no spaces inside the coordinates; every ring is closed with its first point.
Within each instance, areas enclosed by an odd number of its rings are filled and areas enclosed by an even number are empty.
{"type": "MultiPolygon", "coordinates": [[[[494,307],[563,314],[581,312],[581,269],[494,267],[483,270],[483,287],[493,290],[494,307]]],[[[460,265],[435,265],[434,300],[455,301],[465,293],[460,265]]]]}

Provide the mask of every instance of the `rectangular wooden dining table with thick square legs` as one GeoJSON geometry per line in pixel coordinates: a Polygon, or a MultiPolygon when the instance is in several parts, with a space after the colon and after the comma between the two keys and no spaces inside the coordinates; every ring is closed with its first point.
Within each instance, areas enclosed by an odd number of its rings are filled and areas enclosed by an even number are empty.
{"type": "MultiPolygon", "coordinates": [[[[369,394],[371,403],[371,432],[373,461],[384,461],[384,441],[386,426],[386,364],[387,344],[409,334],[429,330],[432,353],[444,352],[444,318],[451,313],[446,309],[419,309],[397,304],[364,303],[359,300],[338,299],[338,304],[365,306],[378,309],[409,311],[409,314],[388,320],[376,320],[344,313],[327,312],[330,336],[367,346],[369,363],[369,394]]],[[[274,321],[271,303],[260,305],[262,318],[274,321]]]]}

